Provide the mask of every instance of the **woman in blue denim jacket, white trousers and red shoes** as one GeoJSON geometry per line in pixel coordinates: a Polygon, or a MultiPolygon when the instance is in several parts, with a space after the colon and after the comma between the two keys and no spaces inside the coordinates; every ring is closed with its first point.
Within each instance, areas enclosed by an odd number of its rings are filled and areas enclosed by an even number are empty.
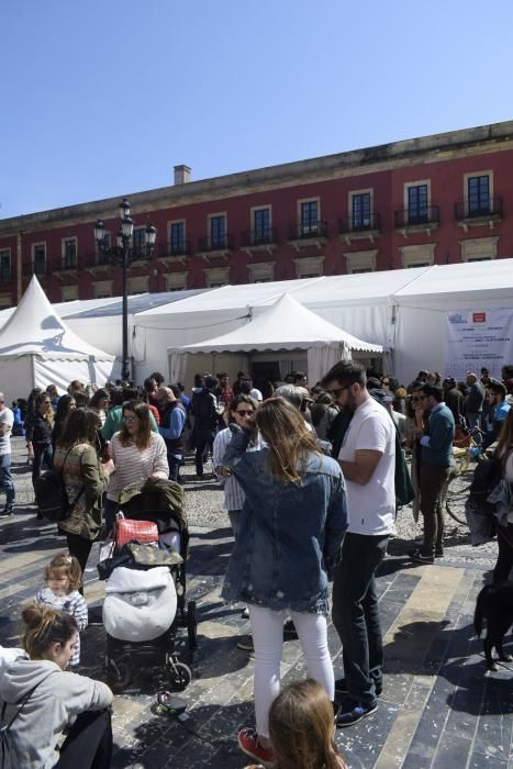
{"type": "Polygon", "coordinates": [[[271,398],[252,421],[265,441],[261,450],[247,453],[252,430],[231,425],[234,435],[224,455],[225,471],[236,477],[245,503],[222,595],[249,605],[255,644],[256,731],[243,729],[238,744],[270,762],[267,721],[280,691],[287,616],[298,631],[309,676],[334,699],[328,575],[341,558],[347,508],[338,462],[317,452],[297,409],[271,398]]]}

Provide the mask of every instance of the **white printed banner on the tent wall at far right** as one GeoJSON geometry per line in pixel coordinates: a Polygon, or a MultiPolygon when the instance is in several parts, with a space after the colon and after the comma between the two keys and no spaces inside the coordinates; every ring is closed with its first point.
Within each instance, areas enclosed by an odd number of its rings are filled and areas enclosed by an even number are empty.
{"type": "Polygon", "coordinates": [[[457,310],[447,313],[447,368],[455,379],[481,367],[500,379],[513,363],[513,310],[457,310]]]}

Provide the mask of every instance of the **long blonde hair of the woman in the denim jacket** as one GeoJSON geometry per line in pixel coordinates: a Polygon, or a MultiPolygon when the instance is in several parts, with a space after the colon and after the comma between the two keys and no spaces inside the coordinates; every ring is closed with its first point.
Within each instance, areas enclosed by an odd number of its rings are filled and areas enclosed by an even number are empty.
{"type": "Polygon", "coordinates": [[[269,447],[269,472],[279,480],[298,483],[298,464],[317,444],[303,416],[285,398],[269,398],[257,409],[256,423],[269,447]]]}

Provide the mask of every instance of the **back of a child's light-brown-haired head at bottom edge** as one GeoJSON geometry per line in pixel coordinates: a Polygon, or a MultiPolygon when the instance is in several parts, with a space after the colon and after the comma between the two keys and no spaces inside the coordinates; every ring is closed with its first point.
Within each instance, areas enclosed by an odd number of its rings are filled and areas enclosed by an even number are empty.
{"type": "Polygon", "coordinates": [[[334,722],[333,704],[320,683],[308,678],[285,687],[269,711],[274,769],[346,769],[333,739],[334,722]]]}

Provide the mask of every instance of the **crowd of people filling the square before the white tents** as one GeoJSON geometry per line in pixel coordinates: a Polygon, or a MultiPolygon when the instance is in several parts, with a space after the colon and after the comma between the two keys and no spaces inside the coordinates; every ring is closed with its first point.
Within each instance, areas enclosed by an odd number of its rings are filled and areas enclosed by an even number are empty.
{"type": "MultiPolygon", "coordinates": [[[[415,519],[422,516],[423,539],[410,558],[433,565],[444,555],[457,431],[497,446],[513,481],[512,391],[511,367],[501,381],[487,369],[480,377],[469,371],[465,382],[421,370],[404,387],[344,360],[310,388],[302,371],[258,388],[241,371],[233,384],[225,372],[197,375],[187,394],[155,371],[141,388],[107,382],[93,391],[74,381],[60,397],[53,384],[35,388],[12,409],[0,393],[1,515],[15,506],[11,434],[25,436],[33,481],[54,467],[70,502],[58,524],[67,551],[52,560],[23,610],[23,650],[0,667],[20,766],[29,766],[26,757],[34,766],[71,766],[83,740],[88,750],[75,766],[109,766],[112,694],[74,672],[88,622],[83,571],[93,542],[113,526],[123,489],[181,482],[191,453],[198,478],[211,461],[233,530],[222,595],[241,602],[250,620],[252,636],[241,647],[255,655],[256,727],[243,729],[238,744],[263,765],[344,767],[334,724],[348,727],[372,714],[383,688],[376,571],[398,509],[412,503],[415,519]],[[327,647],[330,615],[342,646],[338,675],[327,647]],[[280,693],[288,634],[299,637],[309,679],[280,693]],[[54,710],[43,734],[31,720],[45,707],[54,710]]],[[[498,540],[495,581],[513,566],[513,513],[501,520],[498,540]]]]}

